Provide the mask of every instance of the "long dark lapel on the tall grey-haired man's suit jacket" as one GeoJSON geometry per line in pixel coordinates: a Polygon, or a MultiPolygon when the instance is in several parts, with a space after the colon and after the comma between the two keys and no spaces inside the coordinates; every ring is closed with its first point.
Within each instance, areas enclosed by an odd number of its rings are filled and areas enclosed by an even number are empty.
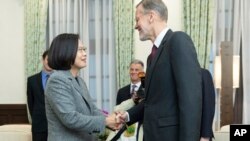
{"type": "MultiPolygon", "coordinates": [[[[148,91],[148,88],[150,86],[149,84],[150,84],[151,77],[153,74],[152,72],[154,71],[154,68],[155,68],[155,64],[158,61],[159,56],[161,55],[163,48],[167,45],[172,34],[173,34],[173,31],[171,29],[169,29],[168,32],[166,33],[166,35],[164,36],[159,48],[157,49],[155,57],[151,60],[150,64],[147,64],[147,71],[146,71],[146,77],[145,77],[145,79],[146,79],[145,80],[145,91],[146,92],[148,91]]],[[[146,94],[146,97],[147,97],[147,94],[146,94]]]]}

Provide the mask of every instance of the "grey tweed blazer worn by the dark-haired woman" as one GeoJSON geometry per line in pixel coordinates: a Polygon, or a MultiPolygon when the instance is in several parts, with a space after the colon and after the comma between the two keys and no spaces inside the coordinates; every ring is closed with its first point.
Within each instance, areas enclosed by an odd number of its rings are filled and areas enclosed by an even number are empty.
{"type": "Polygon", "coordinates": [[[105,129],[105,117],[80,77],[54,71],[45,89],[48,141],[92,141],[105,129]]]}

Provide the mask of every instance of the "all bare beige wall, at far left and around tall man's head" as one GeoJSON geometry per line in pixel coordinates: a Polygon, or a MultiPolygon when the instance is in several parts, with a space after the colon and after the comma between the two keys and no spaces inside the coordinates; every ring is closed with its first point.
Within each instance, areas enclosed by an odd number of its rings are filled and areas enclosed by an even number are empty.
{"type": "MultiPolygon", "coordinates": [[[[140,0],[135,0],[137,4],[140,0]]],[[[180,0],[164,0],[169,27],[181,30],[180,0]]],[[[26,103],[24,76],[24,0],[0,0],[0,104],[26,103]]],[[[152,43],[135,32],[135,58],[146,62],[152,43]]]]}

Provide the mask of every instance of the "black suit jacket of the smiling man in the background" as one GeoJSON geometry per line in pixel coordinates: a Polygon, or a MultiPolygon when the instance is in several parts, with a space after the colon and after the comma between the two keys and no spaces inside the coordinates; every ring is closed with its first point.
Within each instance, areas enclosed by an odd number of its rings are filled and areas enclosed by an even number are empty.
{"type": "MultiPolygon", "coordinates": [[[[142,89],[142,85],[139,87],[139,89],[142,89]]],[[[116,97],[116,105],[119,105],[123,101],[128,100],[130,98],[131,98],[131,93],[130,93],[130,84],[129,84],[118,90],[117,97],[116,97]]]]}

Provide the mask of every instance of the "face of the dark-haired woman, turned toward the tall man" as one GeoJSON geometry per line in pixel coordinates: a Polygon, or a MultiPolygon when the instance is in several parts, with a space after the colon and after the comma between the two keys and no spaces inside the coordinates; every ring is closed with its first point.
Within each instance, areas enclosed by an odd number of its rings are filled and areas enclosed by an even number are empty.
{"type": "Polygon", "coordinates": [[[83,46],[82,41],[78,41],[78,49],[76,53],[75,63],[72,67],[81,69],[87,66],[86,47],[83,46]]]}

